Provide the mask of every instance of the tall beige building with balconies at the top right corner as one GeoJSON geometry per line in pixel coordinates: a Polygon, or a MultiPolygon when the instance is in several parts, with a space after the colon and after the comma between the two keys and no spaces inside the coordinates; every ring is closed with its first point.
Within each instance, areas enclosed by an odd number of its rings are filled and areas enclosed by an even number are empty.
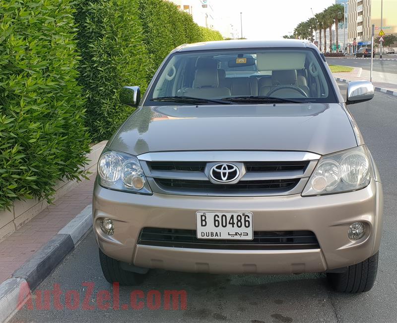
{"type": "Polygon", "coordinates": [[[381,29],[386,34],[397,33],[396,0],[348,0],[348,49],[354,53],[361,47],[371,45],[372,24],[375,37],[381,29]],[[383,26],[381,28],[381,8],[383,26]]]}

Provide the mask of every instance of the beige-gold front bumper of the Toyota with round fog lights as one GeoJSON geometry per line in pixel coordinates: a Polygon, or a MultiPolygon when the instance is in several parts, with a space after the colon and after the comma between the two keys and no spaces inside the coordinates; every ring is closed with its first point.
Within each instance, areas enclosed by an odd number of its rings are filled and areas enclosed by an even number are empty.
{"type": "Polygon", "coordinates": [[[379,249],[382,232],[382,184],[371,180],[358,191],[324,196],[206,197],[154,193],[139,195],[94,188],[93,223],[101,250],[108,256],[146,268],[211,273],[321,272],[359,263],[379,249]],[[137,244],[142,228],[196,230],[196,211],[253,212],[254,231],[309,230],[320,248],[224,250],[137,244]],[[112,236],[99,228],[110,218],[112,236]],[[366,222],[364,238],[352,242],[347,230],[366,222]]]}

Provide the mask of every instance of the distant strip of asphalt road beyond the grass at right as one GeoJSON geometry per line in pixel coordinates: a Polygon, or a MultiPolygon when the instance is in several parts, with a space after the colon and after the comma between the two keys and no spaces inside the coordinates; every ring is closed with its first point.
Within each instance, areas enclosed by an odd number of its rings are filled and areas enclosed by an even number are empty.
{"type": "MultiPolygon", "coordinates": [[[[378,58],[377,56],[375,56],[378,58]]],[[[383,55],[383,58],[387,58],[387,55],[383,55]]],[[[397,59],[397,57],[393,57],[397,59]]],[[[363,70],[370,71],[371,60],[367,59],[351,59],[351,58],[326,58],[328,64],[361,67],[363,70]]],[[[397,60],[396,61],[373,61],[373,71],[397,74],[397,60]]]]}

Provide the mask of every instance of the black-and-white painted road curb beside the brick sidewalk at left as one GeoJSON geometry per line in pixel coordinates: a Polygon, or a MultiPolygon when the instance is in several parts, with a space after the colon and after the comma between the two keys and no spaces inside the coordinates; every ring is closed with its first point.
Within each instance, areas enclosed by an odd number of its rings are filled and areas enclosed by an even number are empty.
{"type": "Polygon", "coordinates": [[[76,215],[58,234],[0,284],[0,322],[6,322],[92,228],[92,205],[76,215]]]}

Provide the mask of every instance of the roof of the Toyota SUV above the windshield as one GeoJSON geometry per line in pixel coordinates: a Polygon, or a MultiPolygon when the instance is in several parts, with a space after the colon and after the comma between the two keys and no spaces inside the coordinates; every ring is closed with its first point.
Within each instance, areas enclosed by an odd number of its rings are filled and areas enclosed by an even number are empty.
{"type": "Polygon", "coordinates": [[[241,49],[241,48],[282,48],[282,47],[310,47],[316,48],[312,42],[301,39],[279,39],[279,40],[218,40],[194,44],[184,44],[175,48],[172,52],[189,52],[205,50],[222,50],[222,49],[241,49]]]}

